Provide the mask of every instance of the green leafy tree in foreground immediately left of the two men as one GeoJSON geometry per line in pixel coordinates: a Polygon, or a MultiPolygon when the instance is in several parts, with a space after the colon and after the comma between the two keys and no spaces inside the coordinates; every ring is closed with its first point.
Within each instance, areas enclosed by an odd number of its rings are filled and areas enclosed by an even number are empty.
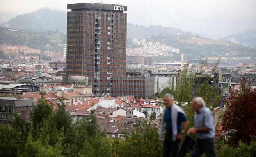
{"type": "Polygon", "coordinates": [[[146,122],[136,121],[130,133],[123,131],[125,140],[114,141],[116,157],[161,157],[162,142],[158,140],[158,130],[146,122]],[[142,128],[142,126],[144,126],[142,128]]]}

